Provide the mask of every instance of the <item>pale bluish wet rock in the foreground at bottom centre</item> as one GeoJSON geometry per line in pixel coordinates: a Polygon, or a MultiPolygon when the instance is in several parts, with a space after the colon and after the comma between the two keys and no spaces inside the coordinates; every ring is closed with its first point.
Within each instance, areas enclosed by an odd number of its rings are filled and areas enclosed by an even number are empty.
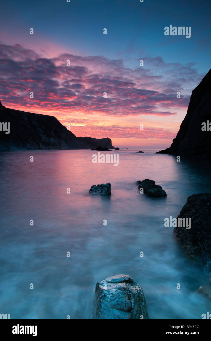
{"type": "Polygon", "coordinates": [[[97,282],[93,318],[149,318],[142,288],[128,275],[97,282]]]}

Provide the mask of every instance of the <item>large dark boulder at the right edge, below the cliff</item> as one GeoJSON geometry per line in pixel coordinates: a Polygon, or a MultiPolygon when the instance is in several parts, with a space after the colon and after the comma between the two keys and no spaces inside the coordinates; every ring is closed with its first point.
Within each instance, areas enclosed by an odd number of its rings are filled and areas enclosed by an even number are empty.
{"type": "Polygon", "coordinates": [[[194,263],[211,260],[211,194],[199,193],[188,197],[177,218],[190,218],[191,228],[175,227],[173,237],[194,263]]]}

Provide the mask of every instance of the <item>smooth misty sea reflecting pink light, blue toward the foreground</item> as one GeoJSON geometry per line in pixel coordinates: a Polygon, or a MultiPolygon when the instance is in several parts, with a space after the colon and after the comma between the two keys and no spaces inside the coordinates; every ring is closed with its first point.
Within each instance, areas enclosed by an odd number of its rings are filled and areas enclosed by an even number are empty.
{"type": "Polygon", "coordinates": [[[115,152],[118,166],[93,164],[89,150],[0,153],[0,313],[91,318],[96,282],[121,273],[143,288],[150,318],[200,319],[211,311],[195,294],[203,271],[180,254],[173,228],[164,227],[188,196],[211,192],[210,163],[177,162],[154,150],[115,152]],[[145,178],[167,197],[140,194],[136,181],[145,178]],[[89,194],[91,185],[106,182],[111,196],[89,194]]]}

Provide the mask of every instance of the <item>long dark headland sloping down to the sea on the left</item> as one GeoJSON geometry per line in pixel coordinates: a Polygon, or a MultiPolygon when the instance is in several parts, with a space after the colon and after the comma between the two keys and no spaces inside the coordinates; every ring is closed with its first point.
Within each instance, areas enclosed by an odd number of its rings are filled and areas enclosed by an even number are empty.
{"type": "Polygon", "coordinates": [[[110,138],[77,137],[54,116],[5,108],[1,102],[0,122],[10,122],[10,133],[1,124],[0,150],[114,148],[110,138]]]}

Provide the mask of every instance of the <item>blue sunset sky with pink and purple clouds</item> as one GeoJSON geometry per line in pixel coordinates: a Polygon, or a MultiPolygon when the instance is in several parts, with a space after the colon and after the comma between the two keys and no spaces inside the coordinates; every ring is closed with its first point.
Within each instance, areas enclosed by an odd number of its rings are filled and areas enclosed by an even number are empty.
{"type": "Polygon", "coordinates": [[[204,0],[3,0],[0,100],[76,136],[167,148],[211,68],[210,14],[204,0]],[[191,27],[190,38],[165,35],[170,25],[191,27]]]}

